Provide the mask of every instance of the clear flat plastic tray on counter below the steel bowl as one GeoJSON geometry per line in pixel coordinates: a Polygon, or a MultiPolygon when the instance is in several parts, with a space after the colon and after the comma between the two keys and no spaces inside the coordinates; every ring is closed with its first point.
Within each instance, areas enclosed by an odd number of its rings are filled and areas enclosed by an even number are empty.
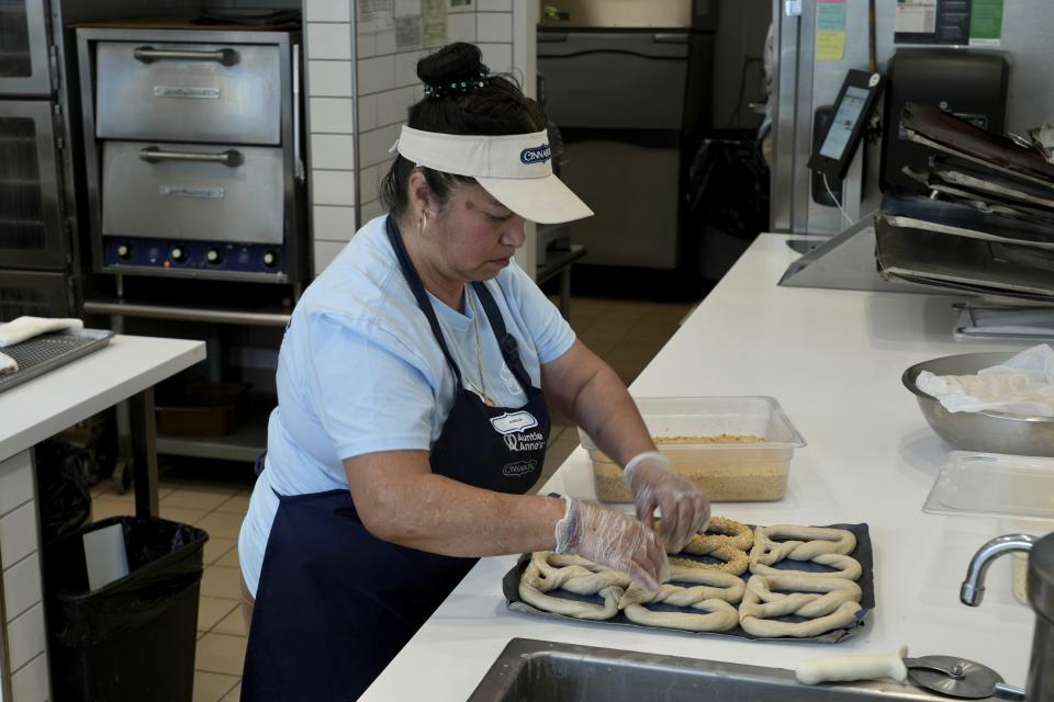
{"type": "Polygon", "coordinates": [[[1054,458],[952,451],[922,511],[1054,520],[1054,458]]]}

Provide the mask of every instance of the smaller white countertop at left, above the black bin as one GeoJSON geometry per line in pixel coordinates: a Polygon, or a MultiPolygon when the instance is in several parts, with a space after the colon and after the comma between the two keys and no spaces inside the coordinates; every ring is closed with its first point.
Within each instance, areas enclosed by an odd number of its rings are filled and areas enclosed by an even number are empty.
{"type": "Polygon", "coordinates": [[[119,335],[98,351],[0,393],[0,461],[204,358],[203,341],[119,335]]]}

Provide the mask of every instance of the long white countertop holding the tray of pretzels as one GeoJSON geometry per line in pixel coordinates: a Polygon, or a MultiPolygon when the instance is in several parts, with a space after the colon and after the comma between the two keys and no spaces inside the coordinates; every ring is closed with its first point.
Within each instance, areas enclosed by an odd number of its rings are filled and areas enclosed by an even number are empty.
{"type": "MultiPolygon", "coordinates": [[[[944,454],[915,397],[908,366],[941,355],[1027,342],[952,338],[957,297],[777,287],[797,254],[763,235],[655,356],[637,397],[771,395],[808,441],[776,502],[717,503],[714,513],[761,524],[867,522],[876,607],[863,635],[841,644],[760,643],[511,612],[502,576],[515,558],[482,559],[362,700],[464,700],[513,637],[793,669],[839,653],[956,655],[1023,686],[1033,613],[1010,591],[1010,559],[988,573],[979,608],[958,601],[974,552],[1002,533],[996,520],[921,511],[944,454]]],[[[594,498],[579,448],[542,488],[594,498]]]]}

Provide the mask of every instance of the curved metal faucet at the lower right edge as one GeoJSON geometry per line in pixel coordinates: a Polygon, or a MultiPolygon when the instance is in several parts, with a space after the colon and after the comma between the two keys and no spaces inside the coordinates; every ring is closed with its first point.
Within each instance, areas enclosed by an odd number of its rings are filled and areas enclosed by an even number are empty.
{"type": "MultiPolygon", "coordinates": [[[[1054,533],[1042,539],[1028,534],[997,536],[982,546],[969,561],[960,589],[963,604],[977,607],[985,596],[985,574],[999,556],[1016,551],[1029,554],[1029,604],[1035,611],[1032,657],[1022,698],[1034,702],[1054,700],[1054,533]]],[[[997,686],[996,697],[1012,699],[1019,691],[997,686]]]]}

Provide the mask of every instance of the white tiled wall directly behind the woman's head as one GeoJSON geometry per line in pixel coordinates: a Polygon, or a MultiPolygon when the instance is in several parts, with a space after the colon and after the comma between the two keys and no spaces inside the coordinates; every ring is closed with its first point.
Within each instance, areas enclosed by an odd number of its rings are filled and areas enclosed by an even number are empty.
{"type": "MultiPolygon", "coordinates": [[[[447,41],[478,43],[492,71],[524,76],[528,71],[514,58],[514,43],[526,32],[532,36],[534,22],[514,21],[520,11],[513,0],[450,8],[447,41]]],[[[393,30],[356,32],[354,0],[304,0],[304,15],[317,274],[358,226],[383,213],[378,183],[393,160],[388,149],[422,94],[417,60],[434,49],[397,52],[393,30]]],[[[529,75],[534,80],[532,68],[529,75]]]]}

